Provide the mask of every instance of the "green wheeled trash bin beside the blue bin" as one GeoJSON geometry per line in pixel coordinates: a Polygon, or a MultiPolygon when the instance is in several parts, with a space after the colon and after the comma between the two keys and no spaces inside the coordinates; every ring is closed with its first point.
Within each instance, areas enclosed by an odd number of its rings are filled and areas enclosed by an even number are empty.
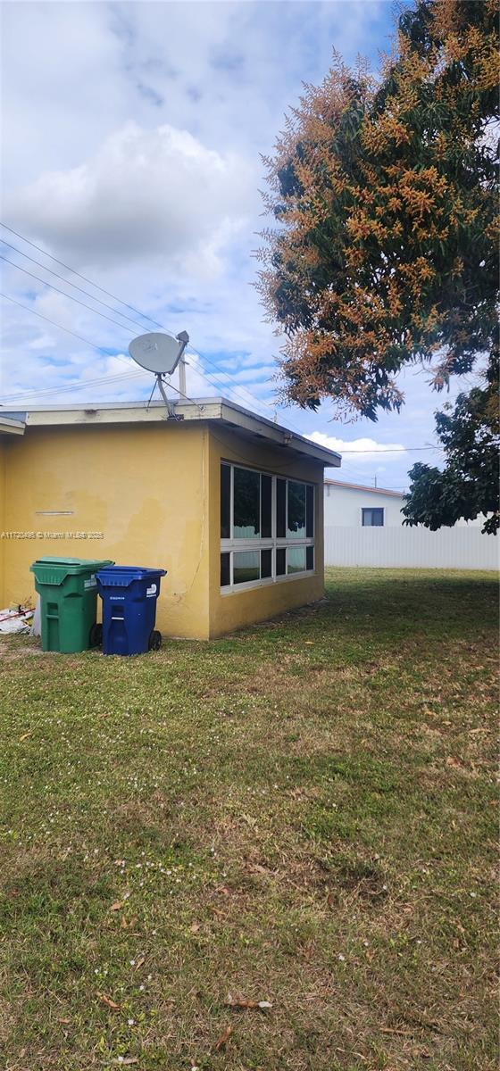
{"type": "Polygon", "coordinates": [[[97,585],[95,573],[112,561],[86,558],[39,558],[30,571],[40,594],[42,649],[86,651],[100,642],[96,624],[97,585]]]}

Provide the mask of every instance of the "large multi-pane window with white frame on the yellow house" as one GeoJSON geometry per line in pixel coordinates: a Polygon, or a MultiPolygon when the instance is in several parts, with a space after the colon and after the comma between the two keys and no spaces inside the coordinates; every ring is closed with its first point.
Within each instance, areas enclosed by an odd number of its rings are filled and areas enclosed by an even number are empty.
{"type": "Polygon", "coordinates": [[[221,587],[274,584],[313,573],[315,488],[221,465],[221,587]]]}

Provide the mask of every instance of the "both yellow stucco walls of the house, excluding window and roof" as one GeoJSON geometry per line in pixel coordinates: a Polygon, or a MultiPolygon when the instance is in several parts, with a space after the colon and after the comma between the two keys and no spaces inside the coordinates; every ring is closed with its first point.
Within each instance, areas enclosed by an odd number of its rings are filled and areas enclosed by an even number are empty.
{"type": "Polygon", "coordinates": [[[0,528],[64,538],[2,540],[1,604],[34,600],[30,564],[43,555],[166,569],[156,622],[167,636],[207,639],[314,602],[323,593],[322,480],[318,463],[198,421],[28,426],[0,440],[0,528]],[[317,485],[314,576],[221,594],[223,457],[317,485]]]}

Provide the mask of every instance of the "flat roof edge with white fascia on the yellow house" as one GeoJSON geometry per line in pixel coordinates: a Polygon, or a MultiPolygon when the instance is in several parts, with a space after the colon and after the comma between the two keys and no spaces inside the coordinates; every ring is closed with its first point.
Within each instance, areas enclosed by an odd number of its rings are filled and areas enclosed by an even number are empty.
{"type": "MultiPolygon", "coordinates": [[[[176,417],[183,418],[180,427],[187,421],[217,422],[238,431],[246,438],[267,439],[275,447],[282,447],[319,462],[325,468],[338,468],[342,456],[334,450],[327,450],[297,432],[276,424],[266,417],[259,417],[249,409],[229,402],[224,397],[192,398],[172,402],[176,417]]],[[[26,409],[0,409],[0,420],[7,418],[28,427],[50,427],[86,424],[154,424],[166,420],[163,402],[104,402],[95,405],[46,405],[30,406],[26,409]]],[[[176,425],[175,420],[171,421],[176,425]]]]}

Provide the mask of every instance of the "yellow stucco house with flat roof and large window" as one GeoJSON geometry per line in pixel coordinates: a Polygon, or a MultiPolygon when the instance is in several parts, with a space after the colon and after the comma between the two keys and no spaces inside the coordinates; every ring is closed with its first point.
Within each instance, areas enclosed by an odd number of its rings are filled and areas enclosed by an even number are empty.
{"type": "Polygon", "coordinates": [[[323,594],[323,472],[340,457],[224,398],[0,417],[0,606],[43,555],[161,567],[157,625],[208,638],[323,594]]]}

